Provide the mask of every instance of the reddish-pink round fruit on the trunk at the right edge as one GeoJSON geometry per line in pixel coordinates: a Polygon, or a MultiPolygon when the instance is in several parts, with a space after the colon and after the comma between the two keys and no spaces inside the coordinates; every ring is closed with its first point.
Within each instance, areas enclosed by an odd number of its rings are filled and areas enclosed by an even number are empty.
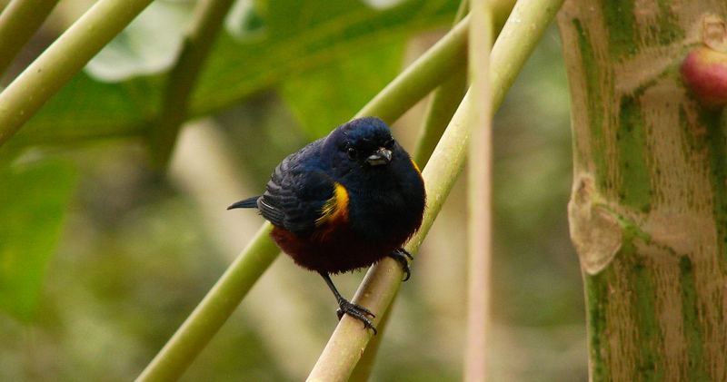
{"type": "Polygon", "coordinates": [[[682,79],[694,96],[709,107],[727,104],[727,54],[701,46],[682,62],[682,79]]]}

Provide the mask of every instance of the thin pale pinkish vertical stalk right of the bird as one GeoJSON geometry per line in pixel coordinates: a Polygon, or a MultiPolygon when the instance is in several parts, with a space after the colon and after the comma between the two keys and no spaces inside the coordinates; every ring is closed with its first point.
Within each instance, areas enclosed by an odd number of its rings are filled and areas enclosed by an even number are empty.
{"type": "Polygon", "coordinates": [[[493,135],[490,108],[490,47],[493,15],[489,2],[473,2],[468,59],[473,104],[467,184],[467,329],[464,380],[483,382],[487,373],[492,260],[493,135]]]}

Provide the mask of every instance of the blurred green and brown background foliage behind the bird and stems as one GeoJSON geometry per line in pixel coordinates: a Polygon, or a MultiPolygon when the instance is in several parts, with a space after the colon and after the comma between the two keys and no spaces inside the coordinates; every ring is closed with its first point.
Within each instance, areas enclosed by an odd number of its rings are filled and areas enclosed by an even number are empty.
{"type": "MultiPolygon", "coordinates": [[[[60,2],[2,84],[93,3],[60,2]]],[[[239,0],[160,171],[144,139],[158,101],[144,97],[161,93],[194,2],[154,2],[0,150],[0,380],[136,377],[263,222],[225,207],[354,115],[457,5],[239,0]]],[[[495,117],[494,381],[587,379],[561,49],[552,26],[495,117]]],[[[410,151],[425,105],[393,124],[410,151]]],[[[372,380],[461,379],[465,201],[461,180],[393,306],[372,380]]],[[[363,275],[334,281],[350,297],[363,275]]],[[[183,380],[304,379],[335,308],[318,275],[281,256],[183,380]]]]}

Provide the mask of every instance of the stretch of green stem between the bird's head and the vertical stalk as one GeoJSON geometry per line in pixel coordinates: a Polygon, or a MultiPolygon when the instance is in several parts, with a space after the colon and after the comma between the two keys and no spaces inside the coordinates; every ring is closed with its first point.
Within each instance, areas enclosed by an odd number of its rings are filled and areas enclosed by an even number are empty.
{"type": "Polygon", "coordinates": [[[470,19],[464,17],[441,40],[422,54],[413,64],[366,103],[354,118],[376,116],[393,123],[414,103],[419,102],[444,78],[462,66],[467,56],[467,29],[470,19]]]}

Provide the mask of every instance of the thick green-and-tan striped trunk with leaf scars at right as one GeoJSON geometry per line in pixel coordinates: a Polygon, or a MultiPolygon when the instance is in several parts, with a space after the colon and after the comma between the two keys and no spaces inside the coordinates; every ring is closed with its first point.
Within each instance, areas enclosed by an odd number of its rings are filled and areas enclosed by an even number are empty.
{"type": "Polygon", "coordinates": [[[724,0],[569,0],[559,16],[592,380],[727,381],[727,123],[679,72],[725,18],[724,0]]]}

